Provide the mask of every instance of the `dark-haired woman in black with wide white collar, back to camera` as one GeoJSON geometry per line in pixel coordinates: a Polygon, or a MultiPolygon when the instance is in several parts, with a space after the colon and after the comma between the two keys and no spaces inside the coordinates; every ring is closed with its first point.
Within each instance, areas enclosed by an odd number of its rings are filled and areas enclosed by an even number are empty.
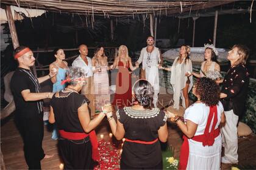
{"type": "Polygon", "coordinates": [[[121,169],[163,169],[160,141],[168,137],[167,115],[153,108],[154,90],[146,80],[133,85],[133,106],[116,112],[117,123],[112,113],[108,122],[116,139],[125,138],[121,154],[121,169]]]}

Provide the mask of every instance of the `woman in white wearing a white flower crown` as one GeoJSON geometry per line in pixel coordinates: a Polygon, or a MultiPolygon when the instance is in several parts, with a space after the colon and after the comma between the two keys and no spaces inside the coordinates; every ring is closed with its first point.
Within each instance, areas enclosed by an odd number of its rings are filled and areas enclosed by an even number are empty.
{"type": "Polygon", "coordinates": [[[213,44],[205,44],[204,47],[204,62],[201,65],[200,73],[191,72],[197,78],[205,77],[208,71],[221,71],[217,63],[218,50],[216,50],[213,44]]]}

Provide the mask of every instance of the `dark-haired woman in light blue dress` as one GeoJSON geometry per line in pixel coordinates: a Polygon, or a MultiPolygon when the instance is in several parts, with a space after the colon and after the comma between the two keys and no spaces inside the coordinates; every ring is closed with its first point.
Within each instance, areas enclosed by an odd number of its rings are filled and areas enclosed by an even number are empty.
{"type": "MultiPolygon", "coordinates": [[[[56,60],[50,64],[49,69],[50,71],[57,72],[57,75],[55,77],[51,77],[51,81],[53,83],[52,85],[52,92],[59,92],[60,90],[65,89],[65,84],[61,84],[62,80],[65,80],[66,77],[66,70],[68,70],[68,63],[65,60],[65,53],[63,49],[56,48],[54,49],[54,56],[56,60]]],[[[52,139],[57,140],[59,137],[58,129],[57,127],[53,126],[52,131],[52,139]]]]}

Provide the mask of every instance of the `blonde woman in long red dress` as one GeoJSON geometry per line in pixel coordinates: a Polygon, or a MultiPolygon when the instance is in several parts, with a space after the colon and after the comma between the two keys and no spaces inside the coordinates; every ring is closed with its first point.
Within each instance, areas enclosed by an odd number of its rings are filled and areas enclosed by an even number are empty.
{"type": "Polygon", "coordinates": [[[117,107],[131,106],[132,104],[132,77],[130,70],[135,70],[137,67],[132,66],[132,60],[126,46],[121,45],[118,49],[118,56],[112,66],[112,69],[118,67],[116,77],[116,93],[113,100],[113,105],[117,107]]]}

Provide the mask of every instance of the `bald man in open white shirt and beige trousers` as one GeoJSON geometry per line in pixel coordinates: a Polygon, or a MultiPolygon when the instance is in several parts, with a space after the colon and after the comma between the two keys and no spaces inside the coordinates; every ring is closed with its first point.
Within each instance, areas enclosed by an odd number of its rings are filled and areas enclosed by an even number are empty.
{"type": "Polygon", "coordinates": [[[93,86],[93,67],[91,66],[91,58],[88,57],[88,47],[85,44],[79,46],[80,55],[73,61],[73,67],[80,67],[85,70],[87,85],[82,88],[82,94],[90,101],[89,108],[91,117],[95,115],[95,95],[93,86]]]}

